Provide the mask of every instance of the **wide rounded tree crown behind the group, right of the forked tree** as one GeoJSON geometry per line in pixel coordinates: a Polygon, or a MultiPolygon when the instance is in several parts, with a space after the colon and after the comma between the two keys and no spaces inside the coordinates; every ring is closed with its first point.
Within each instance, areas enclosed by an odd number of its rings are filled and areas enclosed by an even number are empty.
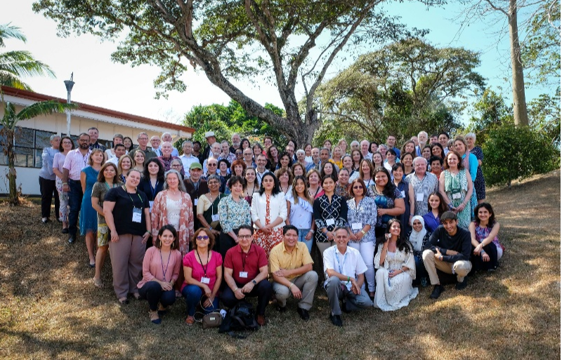
{"type": "MultiPolygon", "coordinates": [[[[353,124],[372,140],[451,131],[469,93],[483,88],[478,54],[398,41],[360,58],[320,88],[322,113],[342,129],[353,124]]],[[[345,130],[344,130],[345,131],[345,130]]],[[[405,139],[398,139],[405,140],[405,139]]]]}

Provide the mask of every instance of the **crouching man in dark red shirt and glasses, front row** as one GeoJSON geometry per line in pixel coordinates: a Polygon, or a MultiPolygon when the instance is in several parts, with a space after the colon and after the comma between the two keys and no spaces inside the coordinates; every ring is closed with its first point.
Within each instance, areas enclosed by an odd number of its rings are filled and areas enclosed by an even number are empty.
{"type": "Polygon", "coordinates": [[[224,259],[226,288],[221,300],[226,307],[233,308],[244,298],[258,298],[256,321],[266,324],[266,307],[273,293],[268,281],[268,259],[266,251],[252,244],[254,229],[242,225],[238,230],[238,244],[230,248],[224,259]]]}

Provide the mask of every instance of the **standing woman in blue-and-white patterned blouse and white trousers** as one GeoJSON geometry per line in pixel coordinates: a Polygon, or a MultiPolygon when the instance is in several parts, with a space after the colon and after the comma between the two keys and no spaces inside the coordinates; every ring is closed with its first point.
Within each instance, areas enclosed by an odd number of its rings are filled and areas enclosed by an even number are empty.
{"type": "Polygon", "coordinates": [[[351,182],[353,198],[347,201],[347,227],[349,243],[352,248],[361,253],[361,258],[367,265],[365,281],[369,288],[369,295],[374,297],[374,226],[377,225],[377,205],[374,199],[367,196],[367,187],[361,179],[351,182]]]}

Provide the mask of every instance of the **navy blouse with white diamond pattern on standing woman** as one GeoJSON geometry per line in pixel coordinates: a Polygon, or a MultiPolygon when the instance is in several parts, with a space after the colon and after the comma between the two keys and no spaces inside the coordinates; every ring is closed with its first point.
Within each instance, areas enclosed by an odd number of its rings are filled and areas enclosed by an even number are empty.
{"type": "Polygon", "coordinates": [[[322,234],[321,229],[326,228],[331,232],[336,227],[347,226],[347,203],[341,196],[332,195],[332,202],[330,202],[328,196],[323,194],[314,201],[313,210],[314,222],[318,229],[315,232],[315,239],[318,242],[325,243],[328,241],[327,236],[322,234]]]}

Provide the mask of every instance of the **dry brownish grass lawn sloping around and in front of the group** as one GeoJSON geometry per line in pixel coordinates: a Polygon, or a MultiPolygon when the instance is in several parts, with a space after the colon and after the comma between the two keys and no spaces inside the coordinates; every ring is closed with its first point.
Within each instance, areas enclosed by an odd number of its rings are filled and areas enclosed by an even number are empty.
{"type": "MultiPolygon", "coordinates": [[[[58,222],[42,225],[40,208],[0,206],[0,358],[4,359],[560,359],[560,171],[488,192],[507,252],[495,273],[469,287],[431,287],[410,306],[328,320],[318,288],[311,320],[268,307],[268,325],[245,340],[183,323],[176,302],[162,325],[148,304],[119,306],[111,286],[91,281],[83,239],[69,246],[58,222]]],[[[323,276],[322,276],[323,278],[323,276]]]]}

